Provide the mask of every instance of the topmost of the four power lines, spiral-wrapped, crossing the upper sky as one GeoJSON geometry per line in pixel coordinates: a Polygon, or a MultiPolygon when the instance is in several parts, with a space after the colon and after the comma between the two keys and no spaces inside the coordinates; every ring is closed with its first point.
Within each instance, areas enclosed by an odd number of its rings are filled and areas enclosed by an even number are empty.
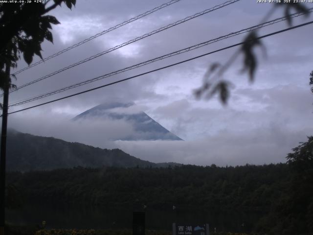
{"type": "Polygon", "coordinates": [[[14,73],[14,75],[17,75],[17,74],[21,73],[22,71],[25,71],[25,70],[28,70],[28,69],[34,67],[34,66],[37,66],[37,65],[39,65],[39,64],[41,64],[41,63],[43,63],[43,62],[45,62],[45,61],[47,61],[49,59],[52,59],[52,58],[54,58],[54,57],[56,57],[58,55],[63,54],[64,52],[67,52],[70,49],[73,49],[75,47],[83,45],[83,44],[85,44],[85,43],[87,43],[87,42],[89,42],[89,41],[91,41],[91,40],[93,40],[93,39],[95,39],[97,37],[100,37],[100,36],[102,36],[102,35],[104,35],[104,34],[106,34],[108,32],[111,32],[112,30],[115,30],[115,29],[117,29],[119,27],[122,27],[122,26],[124,26],[126,24],[132,23],[132,22],[134,22],[134,21],[136,21],[136,20],[138,20],[140,18],[143,18],[143,17],[145,17],[147,15],[150,15],[150,14],[152,14],[152,13],[154,13],[154,12],[164,8],[164,7],[172,5],[172,4],[174,4],[174,3],[178,2],[178,1],[180,1],[180,0],[171,0],[169,2],[166,2],[166,3],[162,4],[162,5],[159,5],[159,6],[155,7],[155,8],[153,8],[153,9],[151,9],[149,11],[146,11],[145,13],[142,13],[142,14],[140,14],[138,16],[135,16],[134,18],[131,18],[131,19],[127,20],[127,21],[124,21],[123,23],[116,24],[115,26],[113,26],[111,28],[108,28],[108,29],[106,29],[106,30],[104,30],[104,31],[102,31],[100,33],[97,33],[97,34],[95,34],[95,35],[93,35],[93,36],[91,36],[91,37],[89,37],[89,38],[87,38],[85,40],[82,40],[82,41],[80,41],[80,42],[78,42],[78,43],[76,43],[76,44],[74,44],[74,45],[72,45],[70,47],[67,47],[67,48],[65,48],[63,50],[60,50],[60,51],[54,53],[53,55],[50,55],[50,56],[48,56],[48,57],[46,57],[46,58],[44,58],[44,59],[42,59],[42,60],[40,60],[40,61],[38,61],[38,62],[36,62],[34,64],[31,64],[30,66],[27,66],[27,67],[23,68],[22,70],[16,71],[14,73]]]}

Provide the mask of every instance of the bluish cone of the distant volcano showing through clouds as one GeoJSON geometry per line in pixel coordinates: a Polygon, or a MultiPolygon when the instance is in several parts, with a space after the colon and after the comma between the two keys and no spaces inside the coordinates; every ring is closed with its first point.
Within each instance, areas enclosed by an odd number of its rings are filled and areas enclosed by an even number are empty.
{"type": "Polygon", "coordinates": [[[134,133],[121,138],[123,141],[138,141],[138,140],[170,140],[182,141],[178,136],[171,133],[169,130],[161,126],[153,118],[150,118],[146,113],[138,110],[138,106],[134,102],[122,103],[113,102],[95,106],[75,118],[73,121],[90,120],[93,118],[104,120],[123,119],[134,127],[134,133]]]}

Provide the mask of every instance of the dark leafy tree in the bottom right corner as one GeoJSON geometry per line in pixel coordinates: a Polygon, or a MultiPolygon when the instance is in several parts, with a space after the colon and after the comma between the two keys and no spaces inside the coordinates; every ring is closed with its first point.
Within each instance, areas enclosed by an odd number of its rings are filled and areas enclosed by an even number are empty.
{"type": "Polygon", "coordinates": [[[276,234],[310,234],[313,232],[313,137],[288,154],[290,182],[286,193],[277,200],[260,227],[276,234]],[[276,220],[275,220],[276,218],[276,220]],[[272,229],[270,229],[272,228],[272,229]]]}

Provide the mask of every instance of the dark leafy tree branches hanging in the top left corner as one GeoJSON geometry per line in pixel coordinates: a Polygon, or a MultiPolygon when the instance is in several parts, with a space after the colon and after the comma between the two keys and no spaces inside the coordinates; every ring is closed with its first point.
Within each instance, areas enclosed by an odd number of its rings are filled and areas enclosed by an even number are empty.
{"type": "Polygon", "coordinates": [[[75,5],[76,0],[53,0],[50,6],[47,3],[0,3],[0,88],[3,90],[11,84],[11,78],[5,74],[5,65],[16,68],[21,54],[27,64],[36,54],[41,59],[41,44],[44,40],[53,43],[51,24],[60,24],[54,16],[45,15],[62,2],[68,8],[75,5]]]}

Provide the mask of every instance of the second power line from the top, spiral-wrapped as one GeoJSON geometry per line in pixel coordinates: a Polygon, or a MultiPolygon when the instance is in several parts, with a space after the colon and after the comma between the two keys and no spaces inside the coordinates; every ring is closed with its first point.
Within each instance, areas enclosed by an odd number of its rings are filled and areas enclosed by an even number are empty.
{"type": "MultiPolygon", "coordinates": [[[[140,37],[136,37],[136,38],[134,38],[134,39],[132,39],[132,40],[126,42],[126,43],[123,43],[123,44],[120,44],[120,45],[118,45],[118,46],[112,47],[112,48],[110,48],[110,49],[108,49],[108,50],[105,50],[105,51],[102,51],[102,52],[100,52],[100,53],[98,53],[98,54],[96,54],[96,55],[90,56],[89,58],[86,58],[86,59],[84,59],[84,60],[81,60],[81,61],[79,61],[79,62],[76,62],[76,63],[74,63],[74,64],[71,64],[71,65],[69,65],[69,66],[67,66],[67,67],[65,67],[65,68],[63,68],[63,69],[60,69],[60,70],[58,70],[58,71],[54,71],[54,72],[52,72],[52,73],[50,73],[50,74],[48,74],[48,75],[45,75],[45,76],[43,76],[43,77],[41,77],[41,78],[38,78],[38,79],[33,80],[33,81],[31,81],[31,82],[28,82],[28,83],[26,83],[26,84],[24,84],[24,85],[18,87],[17,89],[15,89],[15,90],[13,90],[13,91],[10,91],[10,93],[15,92],[15,91],[18,91],[18,90],[20,90],[20,89],[23,88],[23,87],[26,87],[26,86],[29,86],[29,85],[34,84],[34,83],[36,83],[36,82],[39,82],[39,81],[41,81],[41,80],[44,80],[44,79],[46,79],[46,78],[48,78],[48,77],[51,77],[51,76],[53,76],[53,75],[55,75],[55,74],[58,74],[58,73],[60,73],[60,72],[66,71],[66,70],[68,70],[68,69],[70,69],[70,68],[73,68],[73,67],[75,67],[75,66],[77,66],[77,65],[80,65],[80,64],[83,64],[83,63],[85,63],[85,62],[88,62],[88,61],[90,61],[90,60],[92,60],[92,59],[95,59],[95,58],[97,58],[97,57],[99,57],[99,56],[102,56],[102,55],[104,55],[104,54],[107,54],[107,53],[109,53],[109,52],[112,52],[113,50],[119,49],[119,48],[121,48],[121,47],[125,47],[125,46],[127,46],[127,45],[129,45],[129,44],[131,44],[131,43],[137,42],[137,41],[139,41],[139,40],[141,40],[141,39],[144,39],[144,38],[146,38],[146,37],[149,37],[149,36],[151,36],[151,35],[153,35],[153,34],[156,34],[156,33],[161,32],[161,31],[163,31],[163,30],[169,29],[169,28],[171,28],[171,27],[173,27],[173,26],[176,26],[176,25],[178,25],[178,24],[187,22],[187,21],[189,21],[189,20],[191,20],[191,19],[194,19],[194,18],[199,17],[199,16],[201,16],[201,15],[207,14],[207,13],[209,13],[209,12],[215,11],[215,10],[217,10],[217,9],[220,9],[220,8],[222,8],[222,7],[224,7],[224,6],[230,5],[230,4],[235,3],[235,2],[237,2],[237,1],[240,1],[240,0],[228,0],[228,1],[224,2],[224,3],[222,3],[222,4],[219,4],[219,5],[216,5],[216,6],[212,7],[212,8],[206,9],[206,10],[201,11],[201,12],[199,12],[199,13],[196,13],[196,14],[194,14],[194,15],[192,15],[192,16],[188,16],[188,17],[186,17],[186,18],[184,18],[184,19],[182,19],[182,20],[179,20],[179,21],[177,21],[177,22],[175,22],[175,23],[168,24],[168,25],[166,25],[166,26],[163,26],[163,27],[161,27],[161,28],[158,28],[158,29],[156,29],[156,30],[154,30],[154,31],[151,31],[151,32],[149,32],[149,33],[146,33],[146,34],[144,34],[144,35],[142,35],[142,36],[140,36],[140,37]]],[[[2,96],[2,95],[1,95],[1,96],[2,96]]]]}

